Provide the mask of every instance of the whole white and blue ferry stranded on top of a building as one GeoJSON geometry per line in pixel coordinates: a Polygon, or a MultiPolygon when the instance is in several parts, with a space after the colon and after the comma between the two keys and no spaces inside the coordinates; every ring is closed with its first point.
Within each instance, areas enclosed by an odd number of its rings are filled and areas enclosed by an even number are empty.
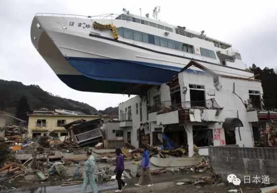
{"type": "Polygon", "coordinates": [[[192,59],[218,74],[253,76],[231,44],[125,9],[121,15],[36,14],[31,40],[59,79],[81,91],[141,94],[171,81],[192,59]]]}

